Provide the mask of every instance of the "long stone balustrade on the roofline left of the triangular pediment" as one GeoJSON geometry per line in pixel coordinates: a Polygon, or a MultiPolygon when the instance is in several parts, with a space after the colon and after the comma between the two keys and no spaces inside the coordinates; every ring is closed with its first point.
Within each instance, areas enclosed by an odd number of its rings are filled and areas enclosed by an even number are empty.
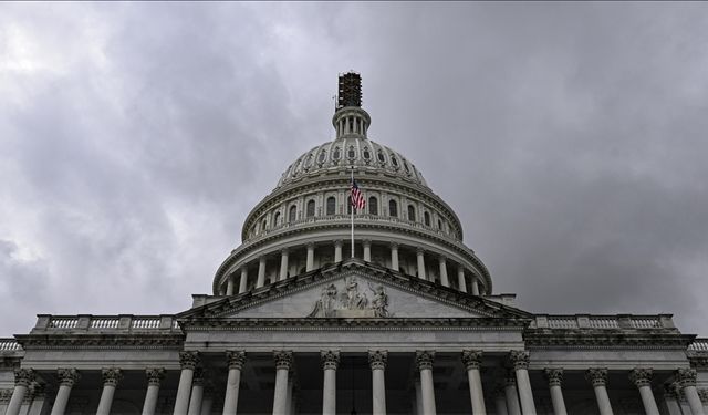
{"type": "Polygon", "coordinates": [[[174,315],[49,315],[41,314],[37,331],[180,331],[174,315]]]}

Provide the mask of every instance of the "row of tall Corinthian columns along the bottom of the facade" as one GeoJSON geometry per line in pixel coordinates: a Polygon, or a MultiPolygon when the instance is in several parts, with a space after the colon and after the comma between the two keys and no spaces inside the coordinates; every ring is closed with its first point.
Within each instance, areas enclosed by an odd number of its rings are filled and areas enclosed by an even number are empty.
{"type": "MultiPolygon", "coordinates": [[[[180,353],[180,376],[177,394],[175,396],[174,415],[200,415],[210,413],[211,402],[206,402],[204,396],[204,372],[198,352],[180,353]],[[206,406],[206,412],[205,412],[206,406]]],[[[247,362],[244,351],[236,350],[226,352],[228,378],[223,398],[223,415],[238,413],[239,385],[241,371],[247,362]]],[[[388,353],[385,350],[369,350],[368,364],[372,374],[372,413],[374,415],[386,414],[386,382],[385,371],[388,353]]],[[[340,351],[323,350],[320,353],[322,364],[322,413],[334,415],[336,412],[336,371],[340,364],[340,351]]],[[[293,352],[279,350],[273,352],[275,363],[275,382],[273,390],[273,415],[294,414],[293,404],[293,352]]],[[[481,381],[482,351],[462,350],[461,362],[467,371],[469,382],[469,398],[473,415],[487,414],[485,392],[481,381]]],[[[435,351],[417,351],[415,353],[415,367],[417,376],[414,380],[416,392],[416,413],[418,415],[435,415],[436,398],[433,382],[435,351]]],[[[525,351],[511,351],[508,355],[510,367],[506,376],[504,385],[498,387],[494,393],[494,413],[497,415],[535,415],[535,404],[531,383],[529,381],[529,353],[525,351]]],[[[35,373],[31,369],[15,370],[15,386],[6,409],[6,415],[19,415],[22,401],[28,393],[30,384],[34,382],[35,373]]],[[[108,415],[113,403],[115,390],[123,377],[118,367],[105,367],[101,371],[103,390],[96,409],[97,415],[108,415]]],[[[148,367],[145,371],[147,390],[143,405],[143,415],[154,415],[160,382],[165,377],[165,370],[148,367]]],[[[548,367],[543,371],[548,381],[549,392],[554,415],[568,415],[563,398],[563,370],[548,367]]],[[[66,404],[74,384],[81,378],[75,369],[59,369],[59,390],[51,415],[64,415],[66,404]]],[[[628,374],[628,378],[637,387],[646,415],[659,415],[657,402],[652,391],[653,370],[649,367],[635,367],[628,374]]],[[[693,369],[679,369],[675,373],[675,382],[666,387],[664,394],[665,404],[670,415],[705,415],[704,403],[707,394],[696,388],[697,373],[693,369]],[[680,408],[678,396],[686,397],[690,413],[680,408]],[[701,400],[702,398],[702,400],[701,400]]],[[[607,395],[607,369],[590,367],[585,371],[585,378],[592,385],[601,415],[613,415],[613,408],[607,395]]]]}

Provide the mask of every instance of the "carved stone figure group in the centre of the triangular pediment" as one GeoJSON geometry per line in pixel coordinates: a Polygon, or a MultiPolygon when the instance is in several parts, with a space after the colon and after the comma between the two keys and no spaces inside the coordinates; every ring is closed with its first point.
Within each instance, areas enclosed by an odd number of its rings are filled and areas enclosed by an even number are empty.
{"type": "Polygon", "coordinates": [[[320,299],[308,317],[319,318],[384,318],[388,313],[388,295],[384,286],[372,286],[360,291],[356,277],[345,278],[343,287],[334,283],[322,289],[320,299]]]}

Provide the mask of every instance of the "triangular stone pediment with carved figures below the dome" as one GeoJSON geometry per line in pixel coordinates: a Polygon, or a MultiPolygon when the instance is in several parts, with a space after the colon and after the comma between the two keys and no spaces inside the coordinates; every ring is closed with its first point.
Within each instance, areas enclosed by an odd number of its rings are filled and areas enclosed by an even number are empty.
{"type": "Polygon", "coordinates": [[[180,319],[528,319],[531,314],[348,260],[188,310],[180,319]]]}

